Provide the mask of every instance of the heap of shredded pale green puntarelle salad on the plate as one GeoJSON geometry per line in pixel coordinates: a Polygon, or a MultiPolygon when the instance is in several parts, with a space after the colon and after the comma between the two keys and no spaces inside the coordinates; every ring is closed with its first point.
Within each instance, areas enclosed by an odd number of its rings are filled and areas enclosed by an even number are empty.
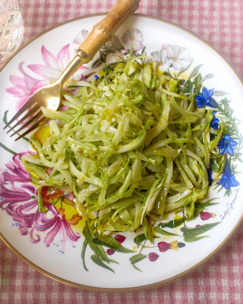
{"type": "Polygon", "coordinates": [[[192,218],[223,128],[210,138],[213,114],[196,107],[181,81],[145,56],[70,81],[60,110],[42,108],[50,120],[44,136],[30,139],[36,153],[21,157],[39,211],[47,211],[48,187],[62,191],[96,233],[141,228],[150,241],[152,223],[166,214],[187,207],[192,218]]]}

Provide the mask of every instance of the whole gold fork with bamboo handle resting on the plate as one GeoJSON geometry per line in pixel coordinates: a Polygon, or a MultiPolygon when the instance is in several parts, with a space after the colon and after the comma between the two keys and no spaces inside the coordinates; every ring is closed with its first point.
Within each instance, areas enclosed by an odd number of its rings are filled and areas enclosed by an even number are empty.
{"type": "Polygon", "coordinates": [[[81,65],[93,59],[100,48],[113,37],[124,19],[138,9],[139,1],[140,0],[118,0],[112,10],[100,22],[93,26],[89,36],[87,36],[86,40],[76,50],[75,57],[59,78],[53,84],[38,89],[4,126],[4,129],[10,127],[7,133],[14,131],[10,137],[18,134],[15,140],[17,141],[48,120],[48,118],[43,116],[40,107],[47,107],[52,110],[58,109],[64,83],[81,65]],[[15,124],[11,126],[13,123],[15,124]],[[15,130],[20,124],[23,125],[15,130]],[[29,128],[19,135],[19,132],[28,126],[29,128]]]}

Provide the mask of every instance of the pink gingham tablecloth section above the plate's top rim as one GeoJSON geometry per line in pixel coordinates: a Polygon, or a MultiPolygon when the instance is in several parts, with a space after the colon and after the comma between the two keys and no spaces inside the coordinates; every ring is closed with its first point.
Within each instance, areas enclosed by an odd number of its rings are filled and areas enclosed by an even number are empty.
{"type": "MultiPolygon", "coordinates": [[[[18,0],[25,40],[70,18],[108,12],[116,0],[18,0]]],[[[243,77],[242,0],[140,0],[137,13],[172,21],[206,40],[243,77]]]]}

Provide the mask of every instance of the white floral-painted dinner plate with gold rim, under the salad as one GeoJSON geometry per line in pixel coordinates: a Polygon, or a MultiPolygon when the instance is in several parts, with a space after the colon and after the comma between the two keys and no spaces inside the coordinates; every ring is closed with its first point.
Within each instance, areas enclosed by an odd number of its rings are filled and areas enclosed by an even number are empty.
{"type": "Polygon", "coordinates": [[[150,245],[142,233],[116,232],[122,248],[134,252],[103,246],[110,263],[94,261],[88,246],[85,256],[81,254],[85,223],[73,208],[67,205],[64,214],[58,208],[51,214],[38,213],[35,188],[18,159],[29,151],[28,143],[15,142],[2,129],[36,86],[57,78],[101,18],[90,15],[59,24],[25,44],[1,68],[0,237],[26,263],[60,282],[90,290],[138,290],[170,282],[202,265],[242,221],[243,86],[205,41],[170,22],[138,14],[129,17],[115,38],[74,75],[80,78],[82,73],[97,71],[103,61],[126,55],[133,47],[137,54],[152,56],[165,71],[190,77],[191,88],[202,80],[198,107],[213,110],[215,134],[222,122],[225,125],[209,174],[212,184],[206,204],[197,216],[186,221],[170,214],[150,245]]]}

